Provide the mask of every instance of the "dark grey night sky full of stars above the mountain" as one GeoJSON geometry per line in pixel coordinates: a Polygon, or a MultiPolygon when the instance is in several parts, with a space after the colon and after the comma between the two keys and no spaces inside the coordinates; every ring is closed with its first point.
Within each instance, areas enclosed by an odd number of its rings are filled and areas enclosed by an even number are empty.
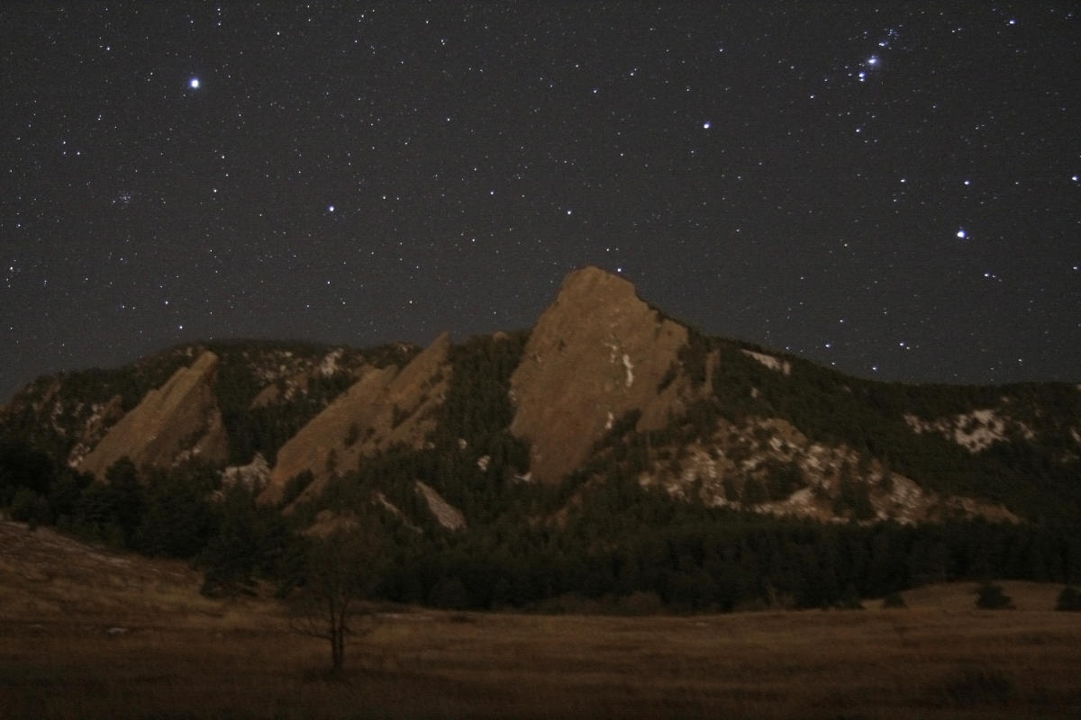
{"type": "Polygon", "coordinates": [[[0,63],[0,402],[529,327],[584,264],[860,377],[1081,380],[1077,2],[9,0],[0,63]]]}

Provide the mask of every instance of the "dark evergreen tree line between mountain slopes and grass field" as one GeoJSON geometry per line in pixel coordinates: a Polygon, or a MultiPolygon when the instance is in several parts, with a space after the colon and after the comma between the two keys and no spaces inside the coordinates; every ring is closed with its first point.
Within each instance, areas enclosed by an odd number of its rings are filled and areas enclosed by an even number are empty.
{"type": "MultiPolygon", "coordinates": [[[[415,497],[409,488],[426,477],[425,463],[409,453],[384,460],[408,463],[410,483],[398,484],[399,494],[415,497]]],[[[304,521],[257,505],[242,486],[222,488],[213,468],[189,465],[144,480],[123,459],[106,480],[57,468],[25,446],[0,446],[0,505],[14,519],[190,559],[203,568],[209,593],[243,592],[259,578],[288,592],[303,581],[304,521]]],[[[1069,526],[826,525],[706,508],[609,478],[580,486],[582,501],[561,521],[552,513],[559,492],[508,484],[505,495],[485,495],[499,517],[458,533],[422,520],[417,533],[363,491],[350,502],[341,494],[346,485],[373,486],[360,476],[338,480],[338,507],[357,507],[384,538],[388,561],[372,594],[400,602],[542,609],[577,597],[615,608],[645,595],[659,607],[702,612],[837,607],[961,579],[1081,582],[1081,538],[1069,526]]],[[[461,487],[468,491],[468,483],[461,487]]],[[[414,500],[408,512],[421,520],[426,510],[414,500]]]]}

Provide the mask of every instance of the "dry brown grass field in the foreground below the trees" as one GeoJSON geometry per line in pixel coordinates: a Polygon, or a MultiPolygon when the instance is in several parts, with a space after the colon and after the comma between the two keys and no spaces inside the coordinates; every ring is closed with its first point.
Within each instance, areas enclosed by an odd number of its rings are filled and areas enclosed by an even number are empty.
{"type": "Polygon", "coordinates": [[[694,617],[384,612],[329,650],[270,600],[0,522],[4,718],[1078,718],[1081,615],[1057,585],[905,594],[904,610],[694,617]]]}

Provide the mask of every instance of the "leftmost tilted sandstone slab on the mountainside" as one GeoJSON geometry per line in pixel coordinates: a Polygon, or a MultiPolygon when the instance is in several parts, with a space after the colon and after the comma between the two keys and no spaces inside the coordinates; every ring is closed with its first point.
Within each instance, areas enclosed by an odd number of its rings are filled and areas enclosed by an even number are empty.
{"type": "Polygon", "coordinates": [[[79,470],[104,479],[106,468],[124,456],[141,471],[171,467],[195,457],[225,462],[229,438],[214,399],[216,369],[217,355],[208,351],[190,367],[174,372],[109,430],[79,470]]]}

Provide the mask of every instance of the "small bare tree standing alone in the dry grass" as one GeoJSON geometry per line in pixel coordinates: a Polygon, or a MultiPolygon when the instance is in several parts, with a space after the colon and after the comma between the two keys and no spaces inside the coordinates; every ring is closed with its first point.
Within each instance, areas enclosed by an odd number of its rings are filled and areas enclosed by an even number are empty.
{"type": "Polygon", "coordinates": [[[333,674],[345,667],[346,637],[375,629],[372,613],[361,610],[382,570],[378,547],[378,535],[361,528],[335,530],[308,547],[304,586],[292,601],[292,628],[330,642],[333,674]]]}

